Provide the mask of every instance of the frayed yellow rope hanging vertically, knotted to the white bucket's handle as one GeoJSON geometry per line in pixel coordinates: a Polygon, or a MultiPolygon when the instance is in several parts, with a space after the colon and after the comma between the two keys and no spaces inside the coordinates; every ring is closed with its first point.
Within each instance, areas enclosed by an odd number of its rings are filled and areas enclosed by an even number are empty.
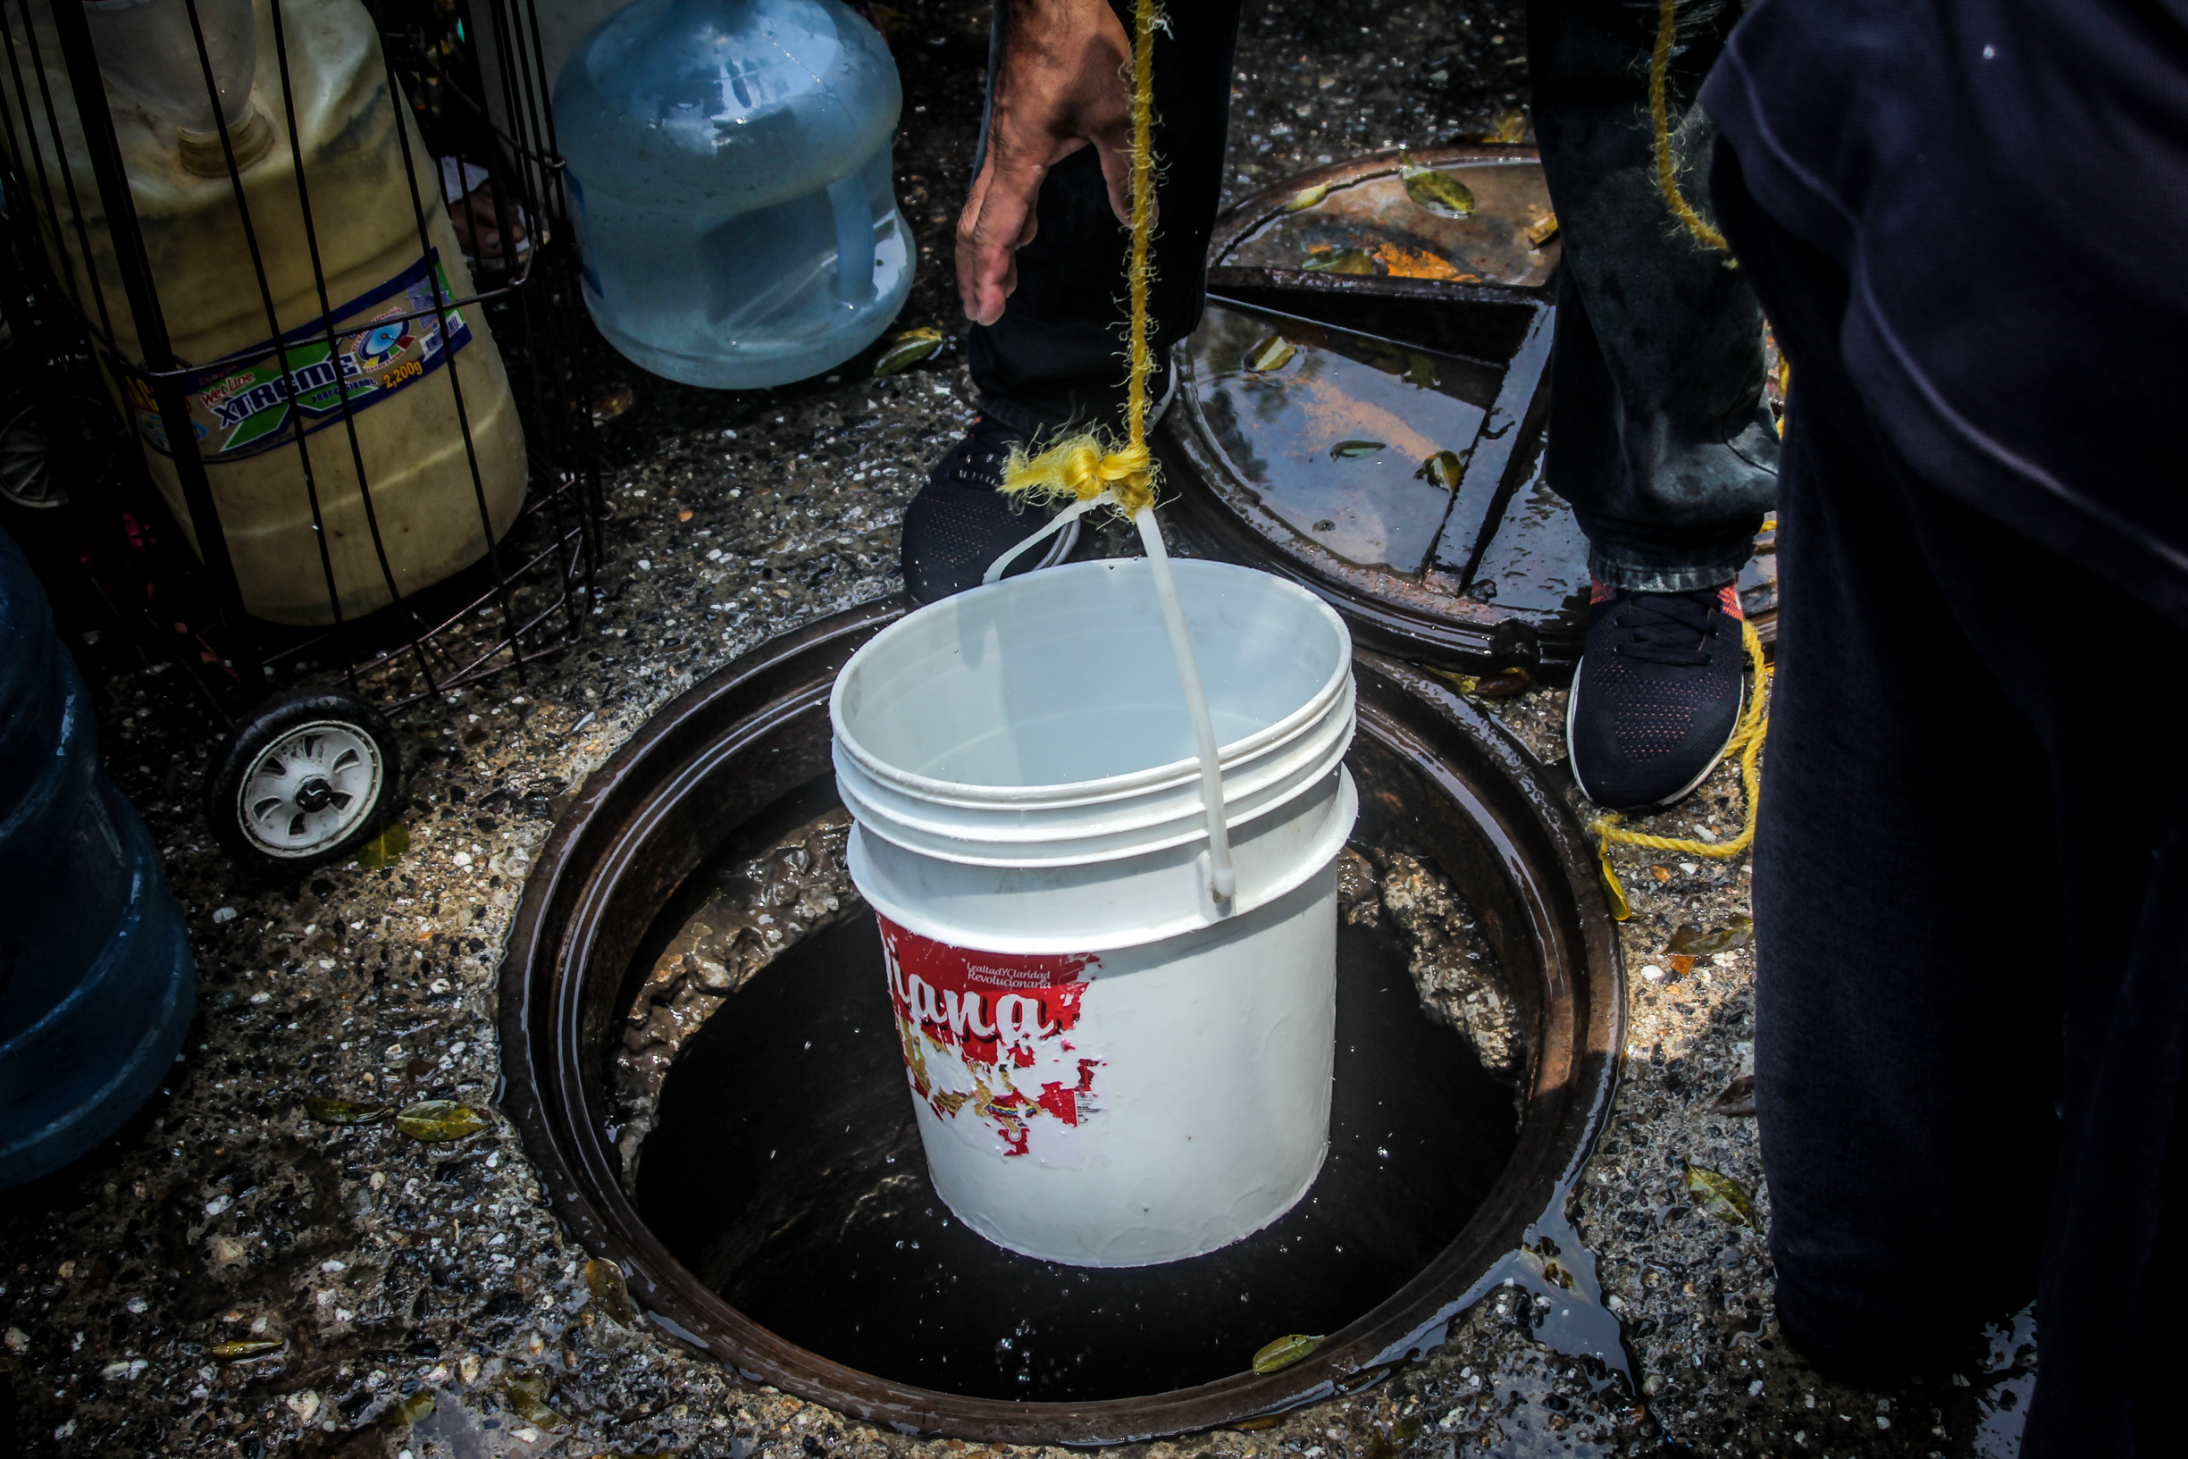
{"type": "Polygon", "coordinates": [[[1125,394],[1125,442],[1079,431],[1039,455],[1011,451],[1002,490],[1050,501],[1107,499],[1125,516],[1155,503],[1155,459],[1147,451],[1147,282],[1155,234],[1155,0],[1136,0],[1131,39],[1131,381],[1125,394]]]}

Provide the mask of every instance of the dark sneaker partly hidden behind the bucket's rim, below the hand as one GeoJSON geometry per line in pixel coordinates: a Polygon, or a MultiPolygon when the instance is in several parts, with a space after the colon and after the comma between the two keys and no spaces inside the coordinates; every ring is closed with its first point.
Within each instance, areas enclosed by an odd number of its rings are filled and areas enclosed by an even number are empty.
{"type": "MultiPolygon", "coordinates": [[[[904,586],[919,606],[978,588],[989,562],[1039,532],[1055,507],[1002,494],[1002,464],[1026,435],[993,416],[974,416],[965,440],[934,464],[928,483],[904,507],[904,586]]],[[[1004,577],[1055,567],[1079,542],[1079,523],[1013,562],[1004,577]]]]}

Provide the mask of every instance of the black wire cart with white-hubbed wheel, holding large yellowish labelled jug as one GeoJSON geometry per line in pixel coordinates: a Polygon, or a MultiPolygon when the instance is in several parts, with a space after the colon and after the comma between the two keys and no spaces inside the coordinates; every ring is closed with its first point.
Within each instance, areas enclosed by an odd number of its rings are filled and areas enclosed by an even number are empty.
{"type": "Polygon", "coordinates": [[[0,0],[0,521],[228,726],[243,866],[350,857],[389,715],[573,643],[593,348],[532,0],[0,0]]]}

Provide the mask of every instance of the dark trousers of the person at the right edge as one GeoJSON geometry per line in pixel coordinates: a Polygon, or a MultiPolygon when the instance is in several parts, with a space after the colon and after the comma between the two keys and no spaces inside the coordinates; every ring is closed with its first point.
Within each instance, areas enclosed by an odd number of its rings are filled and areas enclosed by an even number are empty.
{"type": "Polygon", "coordinates": [[[2188,634],[1921,479],[1847,374],[1844,276],[1729,149],[1713,195],[1792,361],[1755,851],[1779,1319],[1939,1374],[2037,1295],[2024,1459],[2173,1452],[2188,634]]]}

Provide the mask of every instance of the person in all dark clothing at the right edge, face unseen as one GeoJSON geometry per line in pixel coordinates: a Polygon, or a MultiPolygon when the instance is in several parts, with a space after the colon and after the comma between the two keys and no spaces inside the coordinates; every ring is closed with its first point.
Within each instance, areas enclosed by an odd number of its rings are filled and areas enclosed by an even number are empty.
{"type": "Polygon", "coordinates": [[[1761,0],[1702,105],[1792,363],[1755,849],[1777,1317],[2179,1452],[2188,7],[1761,0]]]}

